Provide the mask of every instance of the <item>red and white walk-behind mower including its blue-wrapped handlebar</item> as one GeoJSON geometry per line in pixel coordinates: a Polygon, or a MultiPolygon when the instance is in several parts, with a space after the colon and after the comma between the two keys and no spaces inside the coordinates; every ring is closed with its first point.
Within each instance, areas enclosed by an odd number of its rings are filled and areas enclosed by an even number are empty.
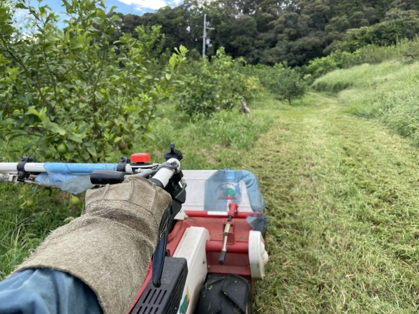
{"type": "Polygon", "coordinates": [[[181,170],[183,155],[170,144],[166,162],[133,154],[119,163],[0,163],[0,182],[22,181],[82,193],[145,177],[173,204],[164,235],[128,313],[251,313],[255,282],[263,280],[267,217],[256,178],[247,171],[181,170]],[[186,196],[187,193],[187,196],[186,196]]]}

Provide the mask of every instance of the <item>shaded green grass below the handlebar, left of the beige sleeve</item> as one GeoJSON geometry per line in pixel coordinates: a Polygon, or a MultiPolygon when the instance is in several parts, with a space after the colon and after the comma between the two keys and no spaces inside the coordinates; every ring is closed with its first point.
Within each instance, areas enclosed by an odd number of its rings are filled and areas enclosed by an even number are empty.
{"type": "Polygon", "coordinates": [[[68,194],[38,186],[0,184],[0,281],[51,231],[79,216],[68,194]],[[28,199],[34,207],[26,207],[28,199]]]}

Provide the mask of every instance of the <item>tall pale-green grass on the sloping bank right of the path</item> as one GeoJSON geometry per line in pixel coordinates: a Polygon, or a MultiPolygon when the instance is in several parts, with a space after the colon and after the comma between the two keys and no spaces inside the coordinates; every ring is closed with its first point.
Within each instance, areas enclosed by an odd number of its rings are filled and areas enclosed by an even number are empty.
{"type": "Polygon", "coordinates": [[[419,63],[386,61],[335,70],[313,88],[337,93],[348,112],[381,119],[419,145],[419,63]]]}

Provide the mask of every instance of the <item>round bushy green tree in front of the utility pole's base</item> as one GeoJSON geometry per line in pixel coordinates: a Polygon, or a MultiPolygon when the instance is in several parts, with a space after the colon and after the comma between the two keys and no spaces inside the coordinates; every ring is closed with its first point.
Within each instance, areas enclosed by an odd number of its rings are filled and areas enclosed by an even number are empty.
{"type": "Polygon", "coordinates": [[[233,110],[241,100],[253,101],[260,93],[258,78],[240,73],[241,67],[241,61],[226,56],[223,48],[212,61],[191,61],[177,109],[189,116],[209,117],[221,110],[233,110]]]}

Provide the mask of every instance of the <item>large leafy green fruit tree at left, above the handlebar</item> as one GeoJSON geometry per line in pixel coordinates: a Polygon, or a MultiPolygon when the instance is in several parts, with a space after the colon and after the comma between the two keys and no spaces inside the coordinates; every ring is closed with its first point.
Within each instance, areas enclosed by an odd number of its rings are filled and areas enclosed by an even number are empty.
{"type": "Polygon", "coordinates": [[[157,66],[159,27],[139,27],[139,39],[126,34],[112,45],[115,7],[106,13],[99,0],[64,5],[63,31],[48,6],[20,0],[16,7],[30,15],[24,29],[15,27],[10,8],[0,8],[0,149],[6,160],[57,158],[60,145],[66,160],[115,160],[119,143],[131,149],[151,136],[156,105],[178,84],[186,48],[157,66]]]}

